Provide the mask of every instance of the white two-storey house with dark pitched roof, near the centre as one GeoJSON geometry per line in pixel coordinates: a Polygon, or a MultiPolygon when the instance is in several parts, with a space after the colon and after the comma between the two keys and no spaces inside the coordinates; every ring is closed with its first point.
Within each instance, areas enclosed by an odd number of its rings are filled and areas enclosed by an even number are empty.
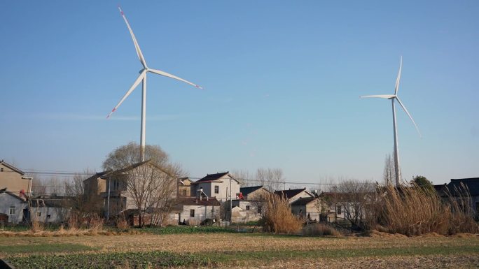
{"type": "Polygon", "coordinates": [[[220,202],[225,202],[240,193],[241,182],[235,180],[229,172],[206,175],[200,180],[190,184],[191,196],[197,196],[202,191],[208,197],[215,197],[220,202]]]}

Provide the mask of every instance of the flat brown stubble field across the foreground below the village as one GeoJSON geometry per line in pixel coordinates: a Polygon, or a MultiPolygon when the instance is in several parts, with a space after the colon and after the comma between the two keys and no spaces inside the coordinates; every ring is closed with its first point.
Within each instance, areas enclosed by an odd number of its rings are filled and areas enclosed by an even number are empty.
{"type": "MultiPolygon", "coordinates": [[[[479,249],[479,236],[467,234],[453,237],[432,234],[409,238],[404,235],[383,233],[373,233],[370,237],[342,238],[240,233],[0,238],[0,249],[55,244],[75,244],[95,249],[81,250],[80,253],[165,251],[180,254],[224,253],[233,257],[244,255],[248,257],[220,261],[212,265],[214,268],[479,268],[479,252],[474,252],[474,249],[479,249]],[[388,249],[422,248],[438,250],[427,254],[414,252],[398,255],[382,254],[382,249],[387,251],[388,249]],[[460,251],[464,248],[469,249],[468,252],[460,251]],[[375,251],[372,251],[370,255],[350,254],[364,249],[375,249],[375,251]],[[290,251],[296,254],[289,256],[290,251]],[[261,256],[274,252],[284,254],[278,259],[263,259],[261,256]],[[338,256],[308,256],[314,252],[333,252],[338,253],[338,256]],[[342,257],[341,253],[345,252],[349,253],[349,256],[342,257]],[[255,256],[255,253],[258,253],[258,256],[255,256]]],[[[33,254],[55,255],[59,252],[43,253],[41,250],[36,250],[27,253],[6,253],[0,251],[1,257],[33,254]]]]}

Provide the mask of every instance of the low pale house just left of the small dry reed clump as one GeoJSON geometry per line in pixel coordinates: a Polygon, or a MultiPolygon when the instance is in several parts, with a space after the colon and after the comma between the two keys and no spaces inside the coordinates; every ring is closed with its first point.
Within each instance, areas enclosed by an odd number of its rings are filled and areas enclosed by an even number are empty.
{"type": "MultiPolygon", "coordinates": [[[[270,191],[263,186],[242,187],[240,194],[232,200],[231,222],[258,221],[263,213],[264,201],[270,191]]],[[[228,208],[228,205],[226,205],[228,208]]]]}

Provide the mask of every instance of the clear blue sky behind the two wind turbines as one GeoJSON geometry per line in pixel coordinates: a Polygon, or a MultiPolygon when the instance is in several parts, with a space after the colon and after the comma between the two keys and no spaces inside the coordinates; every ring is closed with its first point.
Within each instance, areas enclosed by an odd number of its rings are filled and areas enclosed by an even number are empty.
{"type": "Polygon", "coordinates": [[[479,176],[479,1],[1,1],[0,159],[100,170],[139,143],[141,87],[106,115],[144,57],[146,143],[192,177],[282,168],[291,182],[382,179],[398,95],[403,177],[479,176]]]}

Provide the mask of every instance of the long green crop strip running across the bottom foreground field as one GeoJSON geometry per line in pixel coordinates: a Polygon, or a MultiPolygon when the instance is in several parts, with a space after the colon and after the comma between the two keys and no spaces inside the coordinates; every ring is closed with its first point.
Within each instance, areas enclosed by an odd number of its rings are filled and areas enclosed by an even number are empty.
{"type": "Polygon", "coordinates": [[[116,252],[100,254],[67,254],[58,256],[29,256],[7,259],[17,268],[171,268],[217,266],[218,264],[265,263],[298,259],[340,259],[367,256],[426,256],[451,253],[474,254],[478,245],[441,247],[390,247],[354,249],[279,250],[258,252],[206,252],[174,254],[172,252],[116,252]]]}

